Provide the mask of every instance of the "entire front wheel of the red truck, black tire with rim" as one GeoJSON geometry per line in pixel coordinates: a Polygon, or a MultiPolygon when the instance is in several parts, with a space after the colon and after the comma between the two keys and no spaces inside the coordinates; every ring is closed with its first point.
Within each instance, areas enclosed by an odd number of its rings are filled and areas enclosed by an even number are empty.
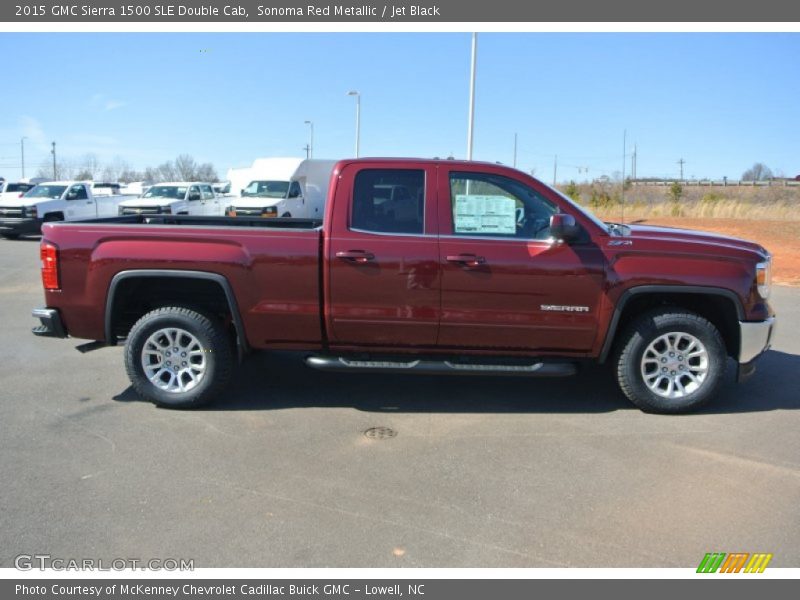
{"type": "Polygon", "coordinates": [[[710,321],[681,309],[655,310],[638,317],[623,333],[616,360],[617,382],[628,399],[645,412],[689,412],[708,402],[717,392],[725,375],[727,358],[725,342],[710,321]],[[662,338],[673,333],[680,337],[662,338]],[[681,347],[688,348],[692,338],[699,346],[692,345],[694,350],[684,356],[681,347]],[[665,339],[673,340],[676,345],[671,348],[665,339]],[[690,357],[700,348],[705,354],[690,357]],[[648,353],[647,362],[643,362],[645,352],[648,353]],[[701,375],[703,379],[698,383],[701,375]],[[681,393],[680,397],[669,397],[681,393]]]}

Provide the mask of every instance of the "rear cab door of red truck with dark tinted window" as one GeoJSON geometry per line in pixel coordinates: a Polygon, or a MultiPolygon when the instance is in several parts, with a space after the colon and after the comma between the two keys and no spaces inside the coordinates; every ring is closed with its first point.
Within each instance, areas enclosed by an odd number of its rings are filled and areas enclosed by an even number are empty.
{"type": "Polygon", "coordinates": [[[436,168],[344,167],[326,243],[326,319],[339,346],[430,347],[439,327],[436,168]],[[381,190],[399,186],[402,200],[381,190]]]}

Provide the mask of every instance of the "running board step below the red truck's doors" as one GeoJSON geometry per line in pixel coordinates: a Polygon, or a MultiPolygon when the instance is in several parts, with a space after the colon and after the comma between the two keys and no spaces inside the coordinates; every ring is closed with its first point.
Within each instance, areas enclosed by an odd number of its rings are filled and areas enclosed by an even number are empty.
{"type": "Polygon", "coordinates": [[[423,375],[515,375],[567,377],[577,373],[574,363],[470,364],[449,360],[358,360],[341,356],[309,356],[306,364],[320,371],[371,371],[373,373],[420,373],[423,375]]]}

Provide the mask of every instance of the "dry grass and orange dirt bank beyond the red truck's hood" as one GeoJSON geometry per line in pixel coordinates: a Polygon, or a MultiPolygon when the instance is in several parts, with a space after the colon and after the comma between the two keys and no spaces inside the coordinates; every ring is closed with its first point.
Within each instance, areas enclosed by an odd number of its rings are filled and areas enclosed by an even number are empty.
{"type": "MultiPolygon", "coordinates": [[[[620,220],[619,185],[577,187],[581,204],[620,220]]],[[[624,220],[753,240],[772,253],[775,283],[800,286],[800,188],[683,187],[676,201],[668,187],[636,186],[625,191],[624,220]]]]}

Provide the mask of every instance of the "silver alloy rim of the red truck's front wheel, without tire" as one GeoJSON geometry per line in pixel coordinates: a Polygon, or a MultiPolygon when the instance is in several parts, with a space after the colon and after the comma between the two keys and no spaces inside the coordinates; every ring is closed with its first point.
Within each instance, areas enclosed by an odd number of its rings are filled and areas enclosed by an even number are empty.
{"type": "Polygon", "coordinates": [[[689,333],[665,333],[647,346],[641,370],[651,392],[663,398],[683,398],[697,391],[706,380],[708,350],[689,333]]]}

